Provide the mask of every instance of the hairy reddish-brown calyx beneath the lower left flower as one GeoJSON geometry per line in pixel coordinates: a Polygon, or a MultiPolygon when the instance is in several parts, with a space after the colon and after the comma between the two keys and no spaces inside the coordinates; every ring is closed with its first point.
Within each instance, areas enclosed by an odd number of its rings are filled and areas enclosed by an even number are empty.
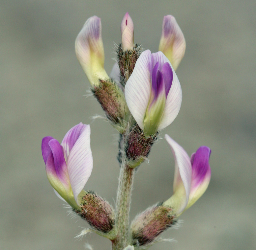
{"type": "Polygon", "coordinates": [[[75,210],[76,214],[100,232],[107,233],[113,229],[114,209],[107,201],[90,191],[81,202],[81,209],[75,210]]]}

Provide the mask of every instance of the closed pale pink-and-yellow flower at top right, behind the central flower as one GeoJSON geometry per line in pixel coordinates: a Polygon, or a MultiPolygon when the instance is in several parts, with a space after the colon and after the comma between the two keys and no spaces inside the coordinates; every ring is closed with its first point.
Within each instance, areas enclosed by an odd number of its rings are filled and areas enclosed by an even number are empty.
{"type": "Polygon", "coordinates": [[[164,16],[159,51],[169,59],[176,70],[184,57],[186,42],[184,35],[172,15],[164,16]]]}

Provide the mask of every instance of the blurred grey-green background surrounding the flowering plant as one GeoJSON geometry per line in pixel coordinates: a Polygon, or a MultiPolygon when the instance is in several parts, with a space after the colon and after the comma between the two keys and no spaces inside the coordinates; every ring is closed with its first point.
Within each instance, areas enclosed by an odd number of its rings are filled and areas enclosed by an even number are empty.
{"type": "MultiPolygon", "coordinates": [[[[101,18],[105,69],[121,41],[126,12],[134,41],[158,51],[163,16],[175,16],[186,39],[177,75],[183,103],[168,133],[190,155],[212,149],[206,193],[151,249],[256,249],[256,1],[0,0],[0,249],[110,249],[68,216],[46,174],[41,140],[62,141],[79,122],[91,125],[94,169],[85,189],[113,206],[119,167],[117,132],[104,120],[74,52],[85,21],[101,18]]],[[[159,140],[135,176],[130,219],[172,194],[174,159],[159,140]]]]}

